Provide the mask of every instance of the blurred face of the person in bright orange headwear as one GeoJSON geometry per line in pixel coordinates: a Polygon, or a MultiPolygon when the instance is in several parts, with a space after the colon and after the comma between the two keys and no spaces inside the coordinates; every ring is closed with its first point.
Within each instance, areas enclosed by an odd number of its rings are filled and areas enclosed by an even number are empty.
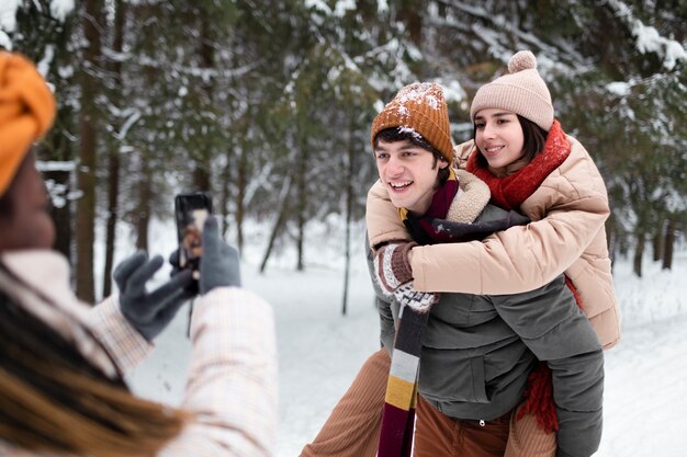
{"type": "Polygon", "coordinates": [[[0,218],[0,252],[19,249],[49,249],[55,242],[55,226],[47,213],[47,195],[33,153],[20,165],[8,191],[12,201],[10,216],[0,218]]]}

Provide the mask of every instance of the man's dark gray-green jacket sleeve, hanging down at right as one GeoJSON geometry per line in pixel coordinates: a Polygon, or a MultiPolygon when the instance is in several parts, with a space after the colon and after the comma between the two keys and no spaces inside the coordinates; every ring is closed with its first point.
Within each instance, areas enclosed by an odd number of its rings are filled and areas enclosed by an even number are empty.
{"type": "Polygon", "coordinates": [[[504,321],[551,368],[558,456],[592,456],[601,439],[604,354],[564,277],[527,294],[492,298],[504,321]]]}

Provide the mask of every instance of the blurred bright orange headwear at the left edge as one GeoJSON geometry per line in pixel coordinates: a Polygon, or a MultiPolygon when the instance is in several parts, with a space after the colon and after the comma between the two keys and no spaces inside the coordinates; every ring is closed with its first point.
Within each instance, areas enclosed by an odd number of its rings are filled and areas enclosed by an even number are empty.
{"type": "Polygon", "coordinates": [[[55,99],[35,66],[19,54],[0,52],[0,196],[54,117],[55,99]]]}

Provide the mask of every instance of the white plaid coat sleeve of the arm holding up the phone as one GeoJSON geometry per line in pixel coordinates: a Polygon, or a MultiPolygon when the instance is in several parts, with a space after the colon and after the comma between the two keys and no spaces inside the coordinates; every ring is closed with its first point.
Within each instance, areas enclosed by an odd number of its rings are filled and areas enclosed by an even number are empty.
{"type": "Polygon", "coordinates": [[[160,457],[274,455],[277,351],[271,307],[235,287],[195,304],[182,408],[196,414],[160,457]]]}

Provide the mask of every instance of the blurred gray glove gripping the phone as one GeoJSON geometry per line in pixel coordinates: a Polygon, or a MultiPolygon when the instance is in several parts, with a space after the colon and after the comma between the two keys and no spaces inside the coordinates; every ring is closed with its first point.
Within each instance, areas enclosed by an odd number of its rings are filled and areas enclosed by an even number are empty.
{"type": "Polygon", "coordinates": [[[203,226],[203,256],[201,258],[201,294],[215,287],[240,287],[238,252],[219,236],[217,219],[209,217],[203,226]]]}

